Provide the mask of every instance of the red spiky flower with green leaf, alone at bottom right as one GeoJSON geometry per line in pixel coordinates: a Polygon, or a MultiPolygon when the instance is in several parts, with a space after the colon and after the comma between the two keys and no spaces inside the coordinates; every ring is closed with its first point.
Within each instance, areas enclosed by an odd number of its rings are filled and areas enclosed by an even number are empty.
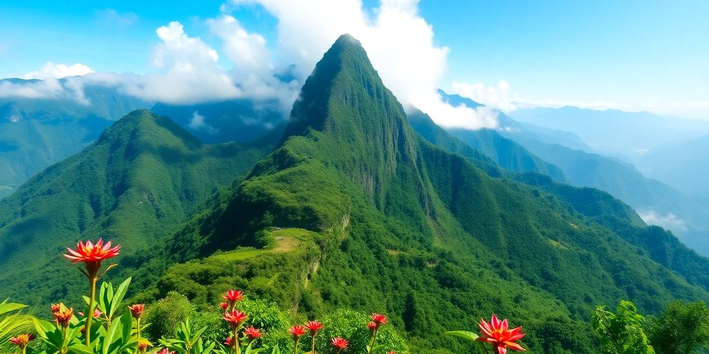
{"type": "MultiPolygon", "coordinates": [[[[525,333],[522,332],[522,326],[515,329],[509,329],[509,324],[507,319],[500,321],[496,315],[492,315],[492,319],[488,323],[484,319],[480,319],[478,324],[482,336],[469,331],[450,331],[446,332],[449,336],[456,336],[459,338],[464,338],[469,341],[475,341],[476,343],[484,342],[490,343],[493,346],[493,352],[496,354],[506,354],[508,348],[518,351],[525,351],[517,341],[524,338],[525,333]]],[[[487,348],[481,346],[482,350],[487,353],[487,348]]]]}

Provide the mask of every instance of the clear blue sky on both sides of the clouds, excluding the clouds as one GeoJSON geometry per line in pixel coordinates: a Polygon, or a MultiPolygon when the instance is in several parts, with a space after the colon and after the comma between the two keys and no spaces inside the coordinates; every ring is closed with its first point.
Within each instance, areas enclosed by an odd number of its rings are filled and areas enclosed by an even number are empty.
{"type": "MultiPolygon", "coordinates": [[[[206,23],[220,16],[223,3],[1,1],[0,77],[23,76],[46,62],[145,74],[154,70],[155,30],[171,21],[230,67],[223,38],[206,23]]],[[[377,6],[364,1],[367,11],[377,6]]],[[[222,10],[277,46],[273,11],[255,4],[222,10]]],[[[464,93],[465,85],[482,84],[480,92],[507,101],[709,118],[709,1],[421,0],[418,13],[432,26],[433,45],[450,50],[436,76],[444,89],[464,93]]]]}

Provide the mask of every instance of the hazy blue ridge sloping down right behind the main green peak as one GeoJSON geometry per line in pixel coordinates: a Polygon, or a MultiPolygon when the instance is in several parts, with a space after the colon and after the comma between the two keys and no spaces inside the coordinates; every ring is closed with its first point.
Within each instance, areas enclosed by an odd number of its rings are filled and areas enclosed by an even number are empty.
{"type": "MultiPolygon", "coordinates": [[[[448,95],[443,91],[440,93],[455,105],[466,105],[470,108],[481,105],[469,98],[448,95]]],[[[513,114],[516,116],[516,111],[513,114]]],[[[574,133],[517,122],[501,112],[498,113],[498,118],[502,127],[500,130],[450,129],[449,132],[471,147],[487,152],[488,156],[505,151],[504,148],[491,144],[494,141],[491,137],[502,135],[513,140],[518,144],[518,149],[523,149],[527,155],[554,166],[565,179],[560,179],[558,174],[554,173],[542,171],[542,174],[571,185],[604,190],[634,207],[647,222],[671,229],[693,249],[709,255],[709,208],[701,198],[685,195],[665,183],[645,177],[627,162],[627,157],[617,155],[620,156],[618,158],[598,153],[574,133]],[[486,146],[489,148],[486,149],[486,146]]],[[[520,169],[511,171],[519,172],[520,169]]]]}

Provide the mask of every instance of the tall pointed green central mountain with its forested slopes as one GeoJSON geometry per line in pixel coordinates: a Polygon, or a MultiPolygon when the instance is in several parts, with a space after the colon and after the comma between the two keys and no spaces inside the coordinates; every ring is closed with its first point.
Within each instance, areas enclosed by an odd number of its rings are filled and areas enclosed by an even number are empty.
{"type": "Polygon", "coordinates": [[[279,147],[138,269],[174,261],[134,299],[177,290],[206,308],[236,286],[295,316],[386,312],[412,353],[469,353],[440,333],[492,313],[525,325],[530,353],[596,353],[596,304],[657,312],[673,298],[709,299],[707,258],[627,205],[539,174],[491,176],[438,134],[457,152],[413,130],[343,35],[306,80],[279,147]]]}

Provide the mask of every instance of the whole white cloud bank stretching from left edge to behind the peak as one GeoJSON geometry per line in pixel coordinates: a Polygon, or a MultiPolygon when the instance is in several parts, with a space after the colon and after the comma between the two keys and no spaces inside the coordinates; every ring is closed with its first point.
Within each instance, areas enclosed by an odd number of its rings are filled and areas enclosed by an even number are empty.
{"type": "MultiPolygon", "coordinates": [[[[137,21],[137,16],[111,9],[99,16],[122,25],[137,21]]],[[[174,104],[273,100],[287,115],[316,62],[337,37],[350,33],[362,42],[384,84],[406,109],[423,110],[444,127],[497,126],[495,110],[442,101],[437,88],[450,50],[437,44],[432,26],[418,12],[418,0],[381,0],[375,8],[365,8],[361,0],[231,0],[205,22],[221,40],[220,48],[189,35],[182,23],[171,22],[156,30],[160,42],[145,75],[94,73],[84,64],[47,63],[24,76],[47,82],[23,89],[4,83],[0,97],[72,97],[85,102],[82,88],[102,84],[146,101],[174,104]],[[263,35],[249,32],[231,14],[233,8],[262,8],[277,18],[277,40],[269,43],[263,35]],[[225,62],[232,67],[220,67],[225,62]],[[68,77],[77,75],[81,79],[68,77]],[[291,79],[284,80],[286,76],[291,79]],[[52,81],[62,77],[67,79],[52,81]]]]}

